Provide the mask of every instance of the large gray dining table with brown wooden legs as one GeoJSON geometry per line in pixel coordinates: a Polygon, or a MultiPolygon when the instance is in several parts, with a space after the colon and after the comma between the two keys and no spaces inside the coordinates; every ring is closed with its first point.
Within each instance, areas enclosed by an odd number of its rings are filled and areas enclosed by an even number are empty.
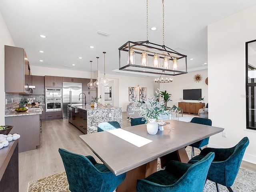
{"type": "Polygon", "coordinates": [[[136,191],[136,181],[156,172],[157,159],[176,152],[181,162],[188,162],[185,147],[220,133],[224,128],[167,120],[170,130],[158,130],[156,135],[148,134],[146,124],[124,127],[80,138],[98,158],[116,175],[126,172],[126,179],[116,192],[136,191]]]}

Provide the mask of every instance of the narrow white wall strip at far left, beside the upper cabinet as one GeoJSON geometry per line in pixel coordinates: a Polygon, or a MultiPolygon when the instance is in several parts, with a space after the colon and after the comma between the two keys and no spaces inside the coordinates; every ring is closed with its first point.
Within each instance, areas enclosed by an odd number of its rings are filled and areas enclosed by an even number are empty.
{"type": "Polygon", "coordinates": [[[15,46],[10,35],[10,32],[6,26],[4,18],[0,12],[0,125],[4,125],[5,114],[5,92],[4,92],[4,45],[15,46]]]}

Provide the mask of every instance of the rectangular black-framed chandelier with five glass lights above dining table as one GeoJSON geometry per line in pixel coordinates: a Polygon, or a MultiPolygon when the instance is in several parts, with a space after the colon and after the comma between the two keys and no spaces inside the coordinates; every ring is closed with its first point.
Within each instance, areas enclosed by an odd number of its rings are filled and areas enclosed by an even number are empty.
{"type": "Polygon", "coordinates": [[[119,50],[119,70],[141,72],[150,74],[180,75],[186,74],[187,56],[172,50],[165,45],[128,41],[119,50]],[[143,56],[146,59],[143,61],[143,56]],[[170,60],[172,65],[165,65],[165,60],[170,60]],[[145,62],[146,60],[146,62],[145,62]],[[158,63],[158,64],[156,64],[158,63]]]}

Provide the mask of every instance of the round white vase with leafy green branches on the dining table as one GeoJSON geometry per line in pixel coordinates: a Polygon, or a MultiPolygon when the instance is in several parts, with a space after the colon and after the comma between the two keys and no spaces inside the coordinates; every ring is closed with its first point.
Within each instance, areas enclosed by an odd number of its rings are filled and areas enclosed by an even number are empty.
{"type": "MultiPolygon", "coordinates": [[[[148,98],[148,103],[146,106],[143,106],[142,103],[138,102],[138,104],[135,104],[132,108],[134,112],[137,111],[140,114],[140,116],[143,118],[142,120],[146,120],[147,131],[152,135],[156,134],[158,131],[156,119],[159,117],[159,115],[169,114],[169,110],[166,110],[164,101],[158,102],[160,93],[161,91],[158,89],[158,92],[156,91],[154,96],[148,98]]],[[[132,114],[134,114],[134,112],[132,114]]]]}

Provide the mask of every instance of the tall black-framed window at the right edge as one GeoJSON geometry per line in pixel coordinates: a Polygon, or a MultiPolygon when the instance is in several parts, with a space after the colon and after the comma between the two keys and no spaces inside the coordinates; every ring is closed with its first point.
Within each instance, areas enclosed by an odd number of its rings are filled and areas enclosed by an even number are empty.
{"type": "Polygon", "coordinates": [[[246,42],[246,128],[256,130],[256,40],[246,42]]]}

